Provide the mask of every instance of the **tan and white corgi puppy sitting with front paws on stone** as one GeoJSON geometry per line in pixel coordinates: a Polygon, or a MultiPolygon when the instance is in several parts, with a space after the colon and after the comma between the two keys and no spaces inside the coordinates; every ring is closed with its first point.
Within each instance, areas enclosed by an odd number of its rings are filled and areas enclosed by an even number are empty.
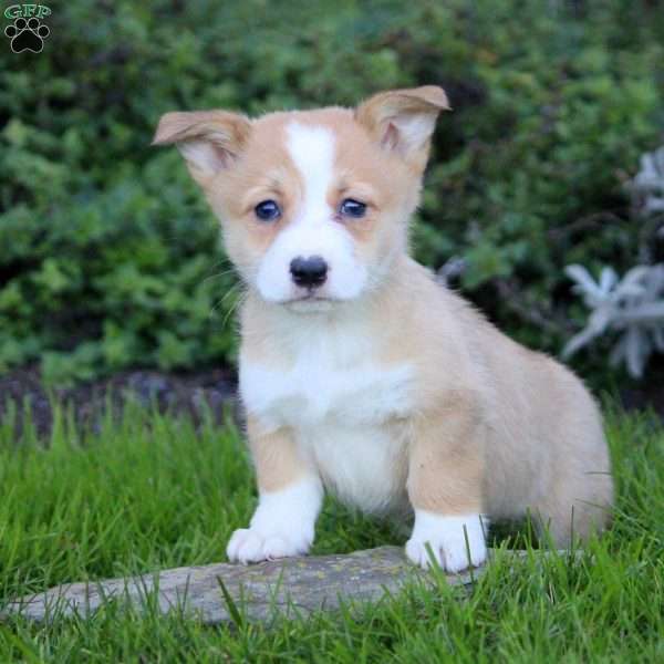
{"type": "Polygon", "coordinates": [[[598,407],[408,253],[445,92],[356,108],[167,113],[247,286],[240,395],[259,502],[228,558],[307,553],[325,489],[414,516],[406,554],[449,572],[487,556],[489,520],[531,513],[559,546],[612,504],[598,407]],[[433,557],[429,557],[429,552],[433,557]]]}

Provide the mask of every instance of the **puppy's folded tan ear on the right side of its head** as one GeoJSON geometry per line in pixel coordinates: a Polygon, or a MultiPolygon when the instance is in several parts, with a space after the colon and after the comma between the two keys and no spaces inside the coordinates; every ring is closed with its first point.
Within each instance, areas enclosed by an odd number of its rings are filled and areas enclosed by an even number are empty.
{"type": "Polygon", "coordinates": [[[357,106],[355,120],[385,149],[424,170],[438,113],[449,110],[442,87],[423,85],[375,94],[357,106]]]}

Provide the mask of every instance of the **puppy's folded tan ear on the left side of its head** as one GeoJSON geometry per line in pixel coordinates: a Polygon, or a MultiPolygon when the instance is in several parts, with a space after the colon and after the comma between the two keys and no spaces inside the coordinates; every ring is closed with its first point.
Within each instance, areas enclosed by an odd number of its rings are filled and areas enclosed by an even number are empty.
{"type": "Polygon", "coordinates": [[[191,177],[204,186],[237,159],[250,133],[251,121],[238,113],[166,113],[159,120],[153,145],[175,143],[191,177]]]}

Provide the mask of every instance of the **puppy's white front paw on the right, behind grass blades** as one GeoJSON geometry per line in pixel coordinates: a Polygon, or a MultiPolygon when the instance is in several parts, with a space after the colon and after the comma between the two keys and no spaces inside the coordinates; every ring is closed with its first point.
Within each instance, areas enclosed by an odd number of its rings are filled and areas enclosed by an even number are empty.
{"type": "Polygon", "coordinates": [[[406,556],[415,564],[427,569],[430,566],[428,548],[436,562],[446,572],[455,573],[470,566],[479,567],[487,559],[483,520],[479,515],[443,517],[415,510],[415,527],[413,536],[406,542],[406,556]],[[466,544],[466,537],[468,544],[466,544]],[[470,559],[468,559],[468,549],[470,559]]]}

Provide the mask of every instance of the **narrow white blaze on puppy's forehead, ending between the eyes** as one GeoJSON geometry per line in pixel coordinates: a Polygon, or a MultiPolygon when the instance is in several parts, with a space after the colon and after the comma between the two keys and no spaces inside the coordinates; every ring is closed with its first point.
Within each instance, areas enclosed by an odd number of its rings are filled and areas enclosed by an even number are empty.
{"type": "Polygon", "coordinates": [[[334,166],[334,135],[325,127],[293,122],[287,127],[287,149],[304,183],[299,219],[321,221],[329,211],[328,189],[334,166]]]}

